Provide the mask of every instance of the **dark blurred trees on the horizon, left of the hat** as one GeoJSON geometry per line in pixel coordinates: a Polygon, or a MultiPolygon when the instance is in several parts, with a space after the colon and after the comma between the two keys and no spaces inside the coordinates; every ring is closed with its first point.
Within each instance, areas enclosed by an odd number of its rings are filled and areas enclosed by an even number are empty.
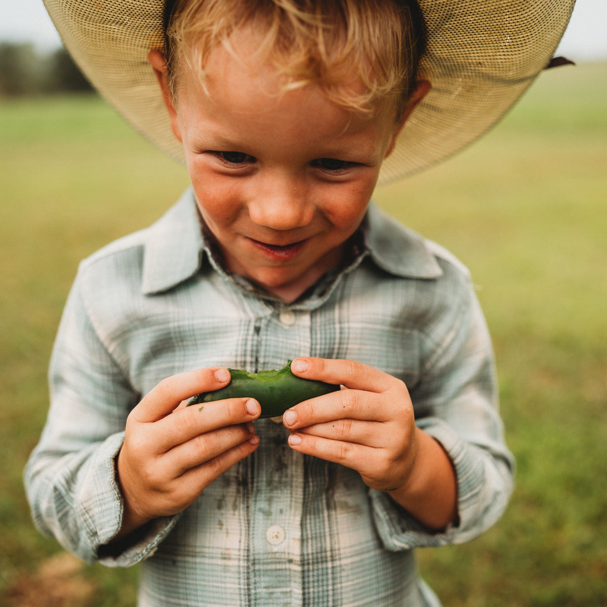
{"type": "Polygon", "coordinates": [[[90,90],[63,47],[43,53],[29,42],[0,42],[0,98],[90,90]]]}

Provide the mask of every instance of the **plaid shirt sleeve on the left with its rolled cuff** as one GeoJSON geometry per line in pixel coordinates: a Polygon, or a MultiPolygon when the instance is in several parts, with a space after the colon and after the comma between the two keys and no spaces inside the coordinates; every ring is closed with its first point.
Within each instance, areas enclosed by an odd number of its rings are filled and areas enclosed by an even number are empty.
{"type": "Polygon", "coordinates": [[[129,566],[146,558],[177,517],[159,518],[121,542],[123,501],[115,458],[139,395],[98,337],[78,277],[59,325],[50,362],[50,409],[24,481],[38,529],[83,560],[129,566]]]}

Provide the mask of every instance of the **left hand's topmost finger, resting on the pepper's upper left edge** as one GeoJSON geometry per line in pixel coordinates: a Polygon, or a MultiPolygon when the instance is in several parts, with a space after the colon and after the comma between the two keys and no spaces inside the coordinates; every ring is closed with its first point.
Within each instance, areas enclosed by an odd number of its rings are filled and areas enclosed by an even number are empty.
{"type": "Polygon", "coordinates": [[[181,401],[200,392],[219,390],[229,383],[230,375],[222,367],[197,369],[163,379],[141,399],[131,415],[138,422],[154,422],[171,413],[181,401]]]}

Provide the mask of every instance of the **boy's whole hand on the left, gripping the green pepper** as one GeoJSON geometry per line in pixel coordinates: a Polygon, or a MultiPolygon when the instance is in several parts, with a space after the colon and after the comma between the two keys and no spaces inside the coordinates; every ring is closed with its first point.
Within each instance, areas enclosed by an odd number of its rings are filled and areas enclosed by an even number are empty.
{"type": "Polygon", "coordinates": [[[185,399],[229,383],[224,368],[164,379],[130,413],[118,454],[124,497],[119,537],[189,506],[222,472],[257,449],[254,399],[231,398],[185,407],[185,399]],[[180,405],[181,406],[178,406],[180,405]]]}

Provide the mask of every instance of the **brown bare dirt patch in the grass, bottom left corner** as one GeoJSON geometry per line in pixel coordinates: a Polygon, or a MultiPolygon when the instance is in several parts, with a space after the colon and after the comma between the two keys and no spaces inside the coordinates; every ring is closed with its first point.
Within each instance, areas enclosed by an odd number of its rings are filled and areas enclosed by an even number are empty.
{"type": "Polygon", "coordinates": [[[13,580],[2,595],[6,607],[83,607],[95,586],[83,576],[84,563],[68,552],[43,561],[35,574],[13,580]]]}

